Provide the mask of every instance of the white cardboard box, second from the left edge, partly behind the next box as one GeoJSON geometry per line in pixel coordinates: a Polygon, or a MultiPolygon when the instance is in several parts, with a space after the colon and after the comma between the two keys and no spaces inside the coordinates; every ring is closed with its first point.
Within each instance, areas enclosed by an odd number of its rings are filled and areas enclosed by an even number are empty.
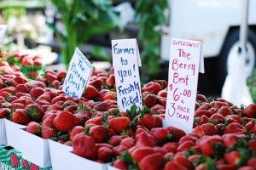
{"type": "Polygon", "coordinates": [[[6,129],[7,144],[14,147],[16,150],[20,150],[20,128],[24,128],[26,126],[17,124],[15,122],[10,122],[8,119],[4,119],[4,124],[6,129]]]}

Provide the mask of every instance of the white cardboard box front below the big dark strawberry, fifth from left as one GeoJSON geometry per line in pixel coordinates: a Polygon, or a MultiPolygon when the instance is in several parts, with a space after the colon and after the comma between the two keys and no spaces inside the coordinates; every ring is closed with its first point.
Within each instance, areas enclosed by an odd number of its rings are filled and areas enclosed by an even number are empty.
{"type": "Polygon", "coordinates": [[[76,170],[84,170],[84,169],[93,169],[93,170],[107,170],[107,164],[98,163],[96,161],[91,161],[89,159],[85,159],[84,157],[77,156],[70,152],[71,155],[69,157],[70,167],[69,169],[76,170]]]}

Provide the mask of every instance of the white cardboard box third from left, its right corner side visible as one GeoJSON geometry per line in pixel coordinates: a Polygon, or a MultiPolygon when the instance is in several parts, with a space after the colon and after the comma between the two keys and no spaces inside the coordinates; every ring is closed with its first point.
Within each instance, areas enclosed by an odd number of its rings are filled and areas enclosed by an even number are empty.
{"type": "Polygon", "coordinates": [[[27,160],[39,167],[51,167],[48,139],[42,139],[32,133],[27,133],[26,128],[20,129],[20,151],[27,160]]]}

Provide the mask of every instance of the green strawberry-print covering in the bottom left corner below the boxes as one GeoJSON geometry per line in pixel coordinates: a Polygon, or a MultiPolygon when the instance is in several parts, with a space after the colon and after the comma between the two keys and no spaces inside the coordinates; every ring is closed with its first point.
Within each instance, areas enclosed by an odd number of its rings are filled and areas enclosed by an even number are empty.
{"type": "Polygon", "coordinates": [[[38,169],[38,170],[51,170],[52,168],[42,168],[26,161],[20,151],[17,151],[9,146],[0,144],[0,169],[38,169]]]}

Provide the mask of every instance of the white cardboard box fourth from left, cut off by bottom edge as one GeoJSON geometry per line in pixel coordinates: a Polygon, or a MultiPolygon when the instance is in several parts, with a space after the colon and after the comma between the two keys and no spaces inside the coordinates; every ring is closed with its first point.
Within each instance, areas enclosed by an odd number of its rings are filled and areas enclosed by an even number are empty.
{"type": "Polygon", "coordinates": [[[72,169],[70,168],[72,165],[69,161],[69,157],[72,154],[71,151],[73,151],[73,147],[60,144],[51,139],[48,141],[52,168],[55,170],[72,169]]]}

